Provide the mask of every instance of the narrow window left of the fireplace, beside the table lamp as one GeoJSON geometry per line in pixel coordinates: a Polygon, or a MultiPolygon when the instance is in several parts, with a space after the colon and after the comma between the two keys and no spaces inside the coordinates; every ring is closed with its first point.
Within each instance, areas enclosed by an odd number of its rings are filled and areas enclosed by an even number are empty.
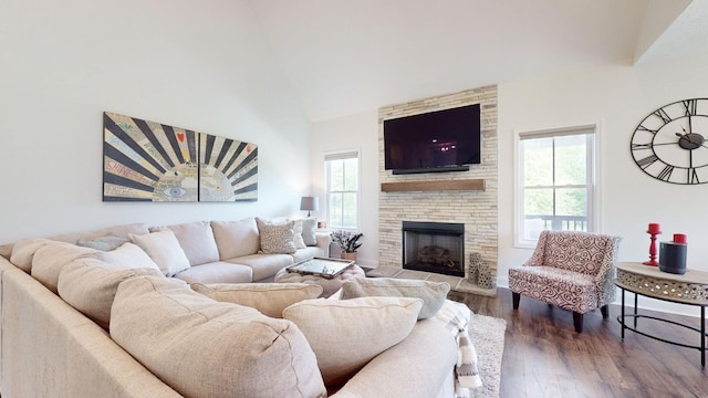
{"type": "Polygon", "coordinates": [[[356,229],[358,219],[358,150],[324,156],[327,223],[356,229]]]}

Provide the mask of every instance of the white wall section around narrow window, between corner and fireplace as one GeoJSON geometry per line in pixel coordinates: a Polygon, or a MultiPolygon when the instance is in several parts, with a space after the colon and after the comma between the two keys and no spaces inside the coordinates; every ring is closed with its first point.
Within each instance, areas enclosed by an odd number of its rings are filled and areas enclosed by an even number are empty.
{"type": "MultiPolygon", "coordinates": [[[[357,149],[360,151],[360,217],[357,229],[364,233],[357,263],[378,263],[378,111],[323,121],[312,126],[312,193],[320,197],[319,219],[326,219],[324,197],[325,153],[357,149]]],[[[313,214],[314,216],[314,214],[313,214]]]]}

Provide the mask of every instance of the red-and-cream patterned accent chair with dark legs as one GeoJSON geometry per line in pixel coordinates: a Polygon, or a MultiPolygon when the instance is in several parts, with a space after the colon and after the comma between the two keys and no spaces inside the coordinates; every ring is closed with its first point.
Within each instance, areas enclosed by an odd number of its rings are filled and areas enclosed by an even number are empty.
{"type": "Polygon", "coordinates": [[[583,314],[615,300],[615,263],[621,238],[576,231],[543,231],[531,259],[509,270],[514,310],[521,295],[573,312],[575,332],[583,332],[583,314]]]}

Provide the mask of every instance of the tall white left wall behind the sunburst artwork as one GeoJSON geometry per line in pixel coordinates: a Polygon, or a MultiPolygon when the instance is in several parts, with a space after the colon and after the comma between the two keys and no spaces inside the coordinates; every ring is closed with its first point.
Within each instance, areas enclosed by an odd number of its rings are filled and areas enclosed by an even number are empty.
{"type": "Polygon", "coordinates": [[[3,0],[0,243],[299,212],[309,122],[246,1],[3,0]],[[104,203],[102,113],[259,146],[259,200],[104,203]]]}

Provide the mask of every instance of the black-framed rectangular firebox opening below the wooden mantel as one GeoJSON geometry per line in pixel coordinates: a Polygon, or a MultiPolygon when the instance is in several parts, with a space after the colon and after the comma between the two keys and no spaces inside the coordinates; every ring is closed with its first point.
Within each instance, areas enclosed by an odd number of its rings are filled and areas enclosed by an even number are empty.
{"type": "Polygon", "coordinates": [[[403,268],[465,276],[465,224],[403,222],[403,268]]]}

